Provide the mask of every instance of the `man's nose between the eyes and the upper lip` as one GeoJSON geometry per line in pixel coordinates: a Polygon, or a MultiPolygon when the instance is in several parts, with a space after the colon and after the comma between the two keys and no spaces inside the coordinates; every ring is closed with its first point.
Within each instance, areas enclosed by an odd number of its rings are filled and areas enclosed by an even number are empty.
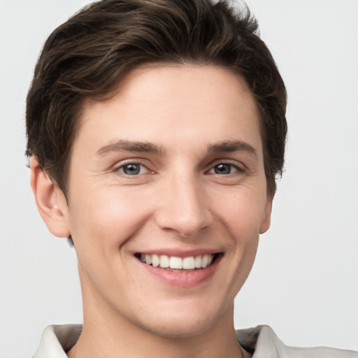
{"type": "Polygon", "coordinates": [[[167,178],[158,199],[155,220],[166,231],[189,238],[213,222],[205,188],[194,174],[167,178]]]}

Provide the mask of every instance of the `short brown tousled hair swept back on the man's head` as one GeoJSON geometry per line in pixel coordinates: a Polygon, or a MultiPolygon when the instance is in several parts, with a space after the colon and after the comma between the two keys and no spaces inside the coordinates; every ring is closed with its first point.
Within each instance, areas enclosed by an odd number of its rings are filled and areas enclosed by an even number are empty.
{"type": "Polygon", "coordinates": [[[27,96],[27,152],[67,192],[71,147],[84,99],[110,93],[143,64],[206,64],[239,73],[261,113],[269,194],[282,174],[286,90],[248,8],[227,1],[102,0],[52,32],[27,96]]]}

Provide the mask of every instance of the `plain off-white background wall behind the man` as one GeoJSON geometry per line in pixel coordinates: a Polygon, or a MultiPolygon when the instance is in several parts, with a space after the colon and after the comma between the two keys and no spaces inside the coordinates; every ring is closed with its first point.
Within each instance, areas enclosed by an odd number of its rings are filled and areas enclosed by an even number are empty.
{"type": "MultiPolygon", "coordinates": [[[[85,0],[0,0],[0,358],[81,322],[76,257],[37,213],[24,101],[38,52],[85,0]]],[[[236,327],[358,350],[358,1],[248,0],[289,94],[286,172],[236,327]]]]}

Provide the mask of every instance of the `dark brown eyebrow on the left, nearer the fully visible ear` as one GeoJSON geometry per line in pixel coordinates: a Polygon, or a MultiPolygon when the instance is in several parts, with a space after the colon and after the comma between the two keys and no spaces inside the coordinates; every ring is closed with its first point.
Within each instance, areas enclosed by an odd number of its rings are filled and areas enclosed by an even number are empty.
{"type": "Polygon", "coordinates": [[[128,152],[150,152],[157,155],[164,154],[164,149],[153,143],[120,139],[118,141],[111,141],[107,145],[99,148],[99,150],[96,151],[96,155],[103,156],[110,152],[120,152],[121,150],[128,152]]]}

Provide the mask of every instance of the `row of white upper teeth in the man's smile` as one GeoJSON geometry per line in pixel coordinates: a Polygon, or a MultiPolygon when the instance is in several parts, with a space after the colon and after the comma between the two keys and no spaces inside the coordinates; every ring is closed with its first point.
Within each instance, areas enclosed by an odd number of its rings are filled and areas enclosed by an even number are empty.
{"type": "Polygon", "coordinates": [[[143,255],[141,262],[154,267],[173,268],[177,270],[194,270],[194,268],[206,268],[213,262],[214,255],[199,255],[189,257],[176,257],[167,255],[143,255]]]}

